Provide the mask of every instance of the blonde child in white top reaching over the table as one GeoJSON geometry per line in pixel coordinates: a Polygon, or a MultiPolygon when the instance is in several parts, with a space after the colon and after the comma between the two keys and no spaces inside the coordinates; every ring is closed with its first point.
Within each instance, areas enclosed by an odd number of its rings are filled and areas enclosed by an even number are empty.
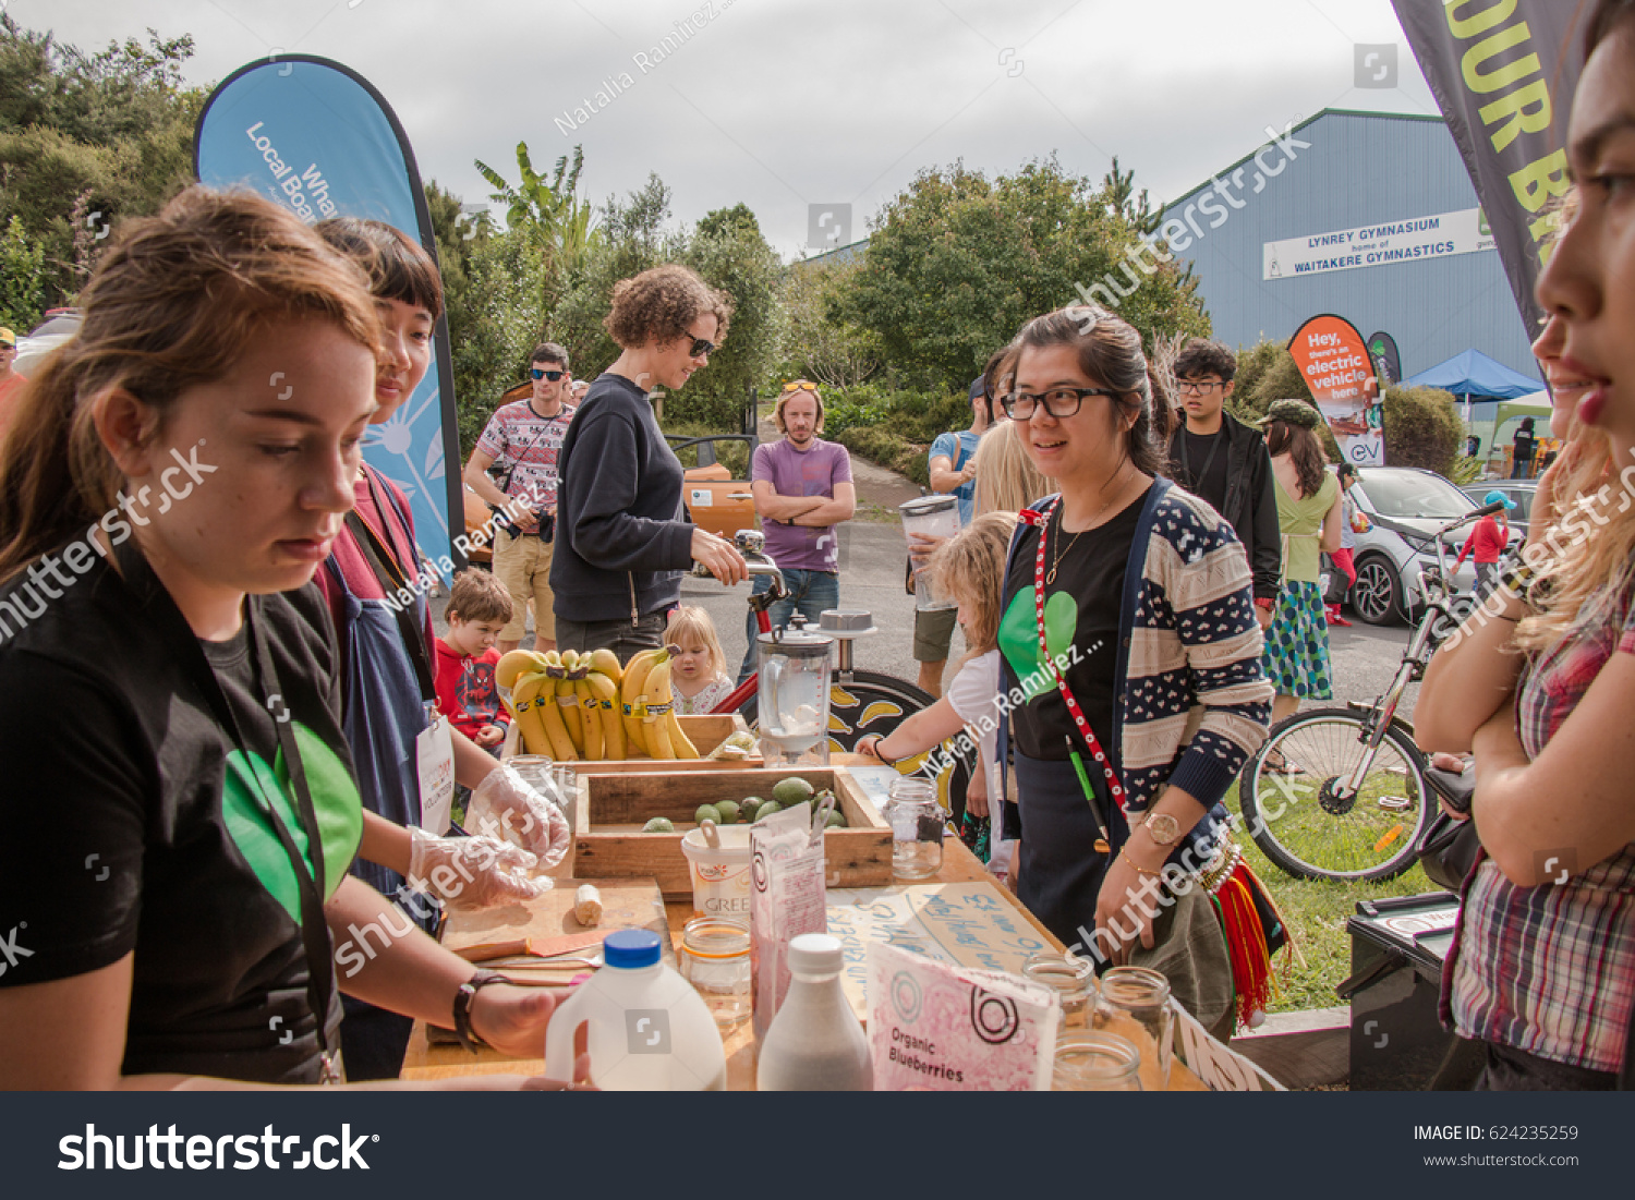
{"type": "MultiPolygon", "coordinates": [[[[989,813],[997,813],[999,772],[999,593],[1004,584],[1006,554],[1015,530],[1014,512],[991,512],[978,517],[932,554],[930,569],[938,587],[958,605],[958,621],[965,629],[968,652],[948,685],[947,695],[930,708],[914,713],[889,734],[868,734],[857,744],[888,765],[932,749],[948,737],[965,736],[976,744],[976,772],[965,791],[966,834],[986,832],[989,813]]],[[[999,868],[1002,870],[1002,863],[999,868]]]]}

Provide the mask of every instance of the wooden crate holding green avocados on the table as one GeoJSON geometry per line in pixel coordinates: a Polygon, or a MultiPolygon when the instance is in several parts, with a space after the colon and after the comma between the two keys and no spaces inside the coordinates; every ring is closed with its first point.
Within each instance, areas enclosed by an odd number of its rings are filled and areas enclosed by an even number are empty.
{"type": "MultiPolygon", "coordinates": [[[[721,767],[721,763],[714,763],[721,767]]],[[[770,796],[778,780],[800,775],[819,791],[832,788],[845,829],[824,835],[831,888],[891,883],[891,826],[844,767],[783,770],[683,770],[674,773],[584,775],[574,831],[574,875],[580,880],[651,875],[665,899],[693,894],[682,835],[697,829],[693,813],[718,799],[770,796]],[[675,822],[674,834],[644,834],[652,817],[675,822]]]]}

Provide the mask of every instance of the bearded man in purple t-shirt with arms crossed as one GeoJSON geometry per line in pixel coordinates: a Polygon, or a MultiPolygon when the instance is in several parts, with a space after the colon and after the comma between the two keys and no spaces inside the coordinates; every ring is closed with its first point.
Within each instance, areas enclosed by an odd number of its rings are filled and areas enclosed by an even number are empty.
{"type": "MultiPolygon", "coordinates": [[[[772,628],[782,629],[790,616],[801,613],[811,625],[826,608],[840,603],[840,553],[835,525],[852,520],[857,492],[852,487],[852,459],[845,446],[824,441],[822,396],[818,384],[796,379],[778,394],[773,419],[782,441],[755,446],[750,466],[750,490],[755,512],[767,535],[767,556],[778,564],[790,595],[772,605],[772,628]]],[[[755,590],[765,592],[770,579],[755,577],[755,590]]],[[[746,621],[749,649],[737,677],[755,670],[755,615],[746,621]]]]}

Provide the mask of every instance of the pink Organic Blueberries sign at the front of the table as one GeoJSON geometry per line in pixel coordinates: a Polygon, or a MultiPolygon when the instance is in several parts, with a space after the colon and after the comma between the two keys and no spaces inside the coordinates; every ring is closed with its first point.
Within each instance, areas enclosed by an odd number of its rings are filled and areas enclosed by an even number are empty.
{"type": "Polygon", "coordinates": [[[1045,1092],[1061,999],[1043,984],[868,947],[876,1092],[1045,1092]]]}

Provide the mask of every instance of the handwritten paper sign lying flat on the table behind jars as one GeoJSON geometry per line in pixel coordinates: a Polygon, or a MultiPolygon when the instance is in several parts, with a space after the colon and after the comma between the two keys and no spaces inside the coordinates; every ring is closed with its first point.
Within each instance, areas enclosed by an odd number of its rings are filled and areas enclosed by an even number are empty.
{"type": "Polygon", "coordinates": [[[880,942],[981,971],[1022,974],[1048,950],[1045,937],[992,883],[921,883],[907,888],[831,888],[829,934],[840,938],[840,983],[858,1020],[867,1020],[868,947],[880,942]]]}

